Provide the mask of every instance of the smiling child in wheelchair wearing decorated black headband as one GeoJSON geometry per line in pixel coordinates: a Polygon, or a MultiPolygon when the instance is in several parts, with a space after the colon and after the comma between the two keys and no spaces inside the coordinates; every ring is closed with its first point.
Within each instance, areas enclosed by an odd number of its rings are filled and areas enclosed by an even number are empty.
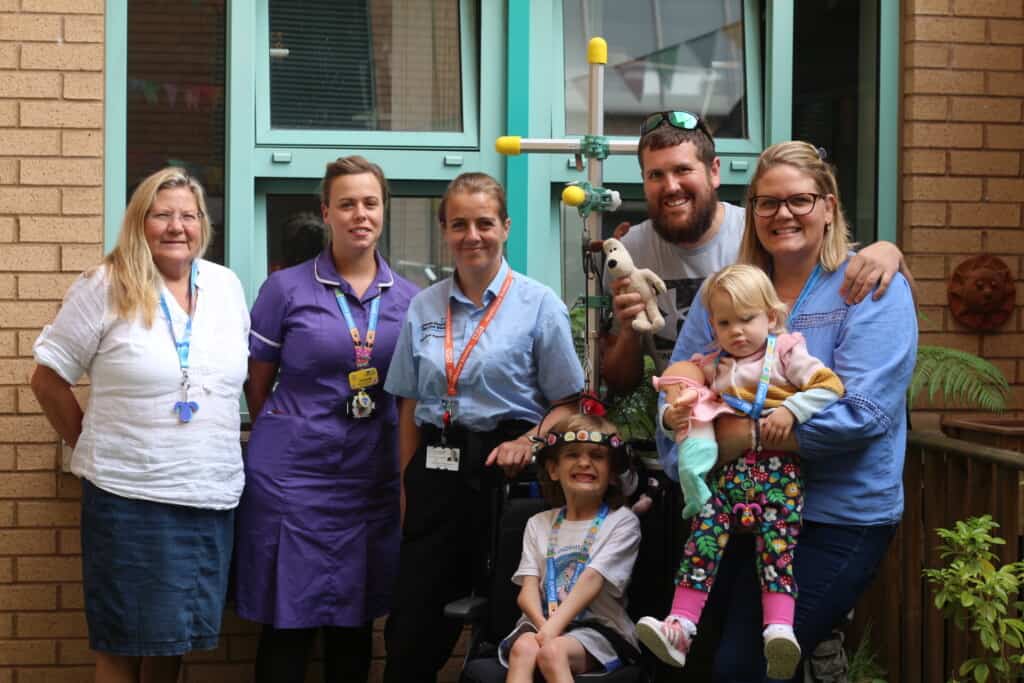
{"type": "Polygon", "coordinates": [[[537,454],[545,498],[530,517],[512,581],[522,616],[502,641],[507,681],[529,683],[614,671],[639,655],[626,589],[640,523],[624,507],[620,475],[629,460],[615,426],[592,415],[559,422],[537,454]]]}

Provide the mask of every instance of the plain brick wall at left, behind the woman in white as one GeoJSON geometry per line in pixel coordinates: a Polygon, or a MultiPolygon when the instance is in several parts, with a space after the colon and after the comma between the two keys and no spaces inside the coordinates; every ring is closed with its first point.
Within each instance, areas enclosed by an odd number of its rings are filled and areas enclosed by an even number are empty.
{"type": "Polygon", "coordinates": [[[78,480],[27,386],[100,257],[103,1],[0,0],[0,683],[91,680],[78,480]]]}

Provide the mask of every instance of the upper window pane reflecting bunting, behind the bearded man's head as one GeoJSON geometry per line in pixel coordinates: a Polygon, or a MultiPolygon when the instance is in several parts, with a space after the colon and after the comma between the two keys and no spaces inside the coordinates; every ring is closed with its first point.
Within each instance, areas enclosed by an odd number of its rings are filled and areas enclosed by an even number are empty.
{"type": "Polygon", "coordinates": [[[565,0],[565,130],[587,127],[587,41],[608,43],[605,133],[638,135],[650,112],[700,115],[716,137],[749,138],[743,0],[565,0]]]}

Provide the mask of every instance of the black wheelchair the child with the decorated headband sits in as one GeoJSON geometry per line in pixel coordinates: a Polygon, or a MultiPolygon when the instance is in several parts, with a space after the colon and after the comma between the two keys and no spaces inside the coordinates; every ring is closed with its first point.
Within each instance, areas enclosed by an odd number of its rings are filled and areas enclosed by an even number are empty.
{"type": "MultiPolygon", "coordinates": [[[[540,498],[531,471],[496,495],[506,500],[496,501],[502,510],[493,528],[492,553],[488,561],[490,583],[487,595],[472,595],[450,602],[445,616],[470,626],[470,640],[460,683],[504,683],[507,670],[498,659],[498,645],[508,635],[519,617],[516,604],[519,587],[511,581],[519,566],[522,535],[527,520],[548,509],[540,498]]],[[[538,674],[536,680],[543,680],[538,674]]],[[[627,665],[612,672],[594,672],[574,677],[580,683],[649,683],[650,678],[638,665],[627,665]]]]}

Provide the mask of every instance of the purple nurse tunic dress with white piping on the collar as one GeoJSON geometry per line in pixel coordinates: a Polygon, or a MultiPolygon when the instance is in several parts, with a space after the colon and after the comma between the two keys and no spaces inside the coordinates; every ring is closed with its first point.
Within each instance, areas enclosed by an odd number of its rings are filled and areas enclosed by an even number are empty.
{"type": "Polygon", "coordinates": [[[280,270],[252,310],[251,357],[280,364],[278,385],[253,425],[238,510],[239,614],[284,629],[359,626],[387,612],[398,565],[397,412],[383,392],[416,286],[380,255],[361,301],[329,250],[280,270]],[[371,418],[347,417],[355,356],[335,298],[347,295],[366,339],[381,296],[370,365],[371,418]]]}

